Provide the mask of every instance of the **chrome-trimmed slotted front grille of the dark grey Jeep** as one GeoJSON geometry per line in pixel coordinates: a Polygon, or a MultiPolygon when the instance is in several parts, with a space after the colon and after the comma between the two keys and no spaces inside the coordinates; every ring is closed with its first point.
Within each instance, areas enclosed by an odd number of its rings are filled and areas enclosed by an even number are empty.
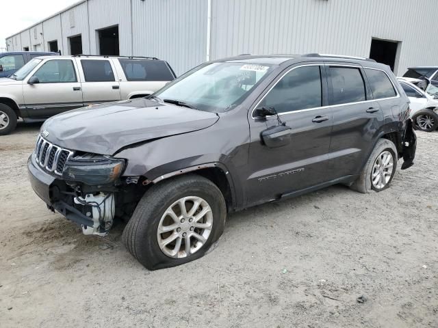
{"type": "Polygon", "coordinates": [[[58,176],[62,176],[64,166],[70,156],[73,155],[71,150],[60,148],[53,145],[49,141],[38,137],[35,148],[35,159],[40,167],[49,172],[55,172],[58,176]]]}

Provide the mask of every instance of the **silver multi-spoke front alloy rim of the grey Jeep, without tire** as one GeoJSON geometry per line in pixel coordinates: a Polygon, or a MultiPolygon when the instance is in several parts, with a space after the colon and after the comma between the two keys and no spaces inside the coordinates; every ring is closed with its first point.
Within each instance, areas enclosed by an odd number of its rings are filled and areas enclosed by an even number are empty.
{"type": "Polygon", "coordinates": [[[159,248],[170,258],[186,258],[201,249],[213,228],[213,213],[201,197],[183,197],[159,221],[159,248]]]}

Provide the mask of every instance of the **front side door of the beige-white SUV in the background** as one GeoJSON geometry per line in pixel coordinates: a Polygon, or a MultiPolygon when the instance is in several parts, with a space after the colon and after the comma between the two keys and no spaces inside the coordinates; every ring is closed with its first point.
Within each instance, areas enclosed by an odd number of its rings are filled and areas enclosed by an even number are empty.
{"type": "Polygon", "coordinates": [[[23,81],[23,97],[29,118],[49,118],[83,106],[81,83],[72,59],[47,59],[23,81]],[[29,84],[31,77],[38,83],[29,84]]]}

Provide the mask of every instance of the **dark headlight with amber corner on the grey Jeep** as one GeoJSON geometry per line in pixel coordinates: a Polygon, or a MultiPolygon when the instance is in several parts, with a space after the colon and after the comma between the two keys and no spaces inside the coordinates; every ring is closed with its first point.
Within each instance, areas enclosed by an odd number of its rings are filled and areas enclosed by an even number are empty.
{"type": "Polygon", "coordinates": [[[111,157],[92,156],[68,159],[62,178],[86,184],[110,184],[122,174],[125,160],[111,157]]]}

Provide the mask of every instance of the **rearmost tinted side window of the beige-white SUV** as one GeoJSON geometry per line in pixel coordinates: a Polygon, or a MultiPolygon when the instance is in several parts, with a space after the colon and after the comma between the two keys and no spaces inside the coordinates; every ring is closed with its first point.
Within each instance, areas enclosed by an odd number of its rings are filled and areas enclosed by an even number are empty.
{"type": "Polygon", "coordinates": [[[172,81],[166,61],[155,59],[118,59],[127,81],[172,81]]]}

